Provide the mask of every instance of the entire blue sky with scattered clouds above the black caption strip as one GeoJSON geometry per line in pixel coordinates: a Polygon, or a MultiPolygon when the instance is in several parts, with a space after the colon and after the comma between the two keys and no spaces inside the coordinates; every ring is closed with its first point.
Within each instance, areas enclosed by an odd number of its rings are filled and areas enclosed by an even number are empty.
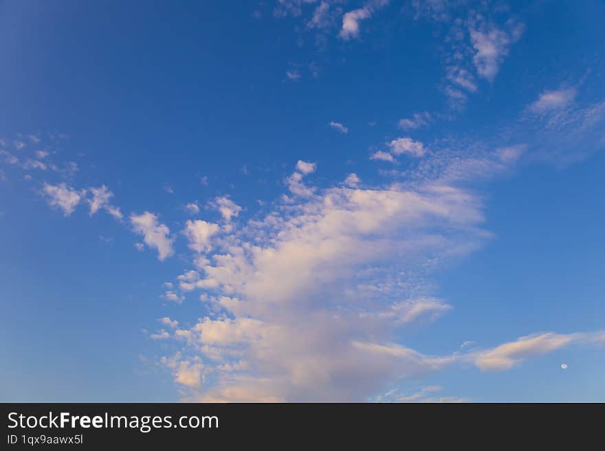
{"type": "Polygon", "coordinates": [[[0,12],[3,401],[605,401],[602,2],[0,12]]]}

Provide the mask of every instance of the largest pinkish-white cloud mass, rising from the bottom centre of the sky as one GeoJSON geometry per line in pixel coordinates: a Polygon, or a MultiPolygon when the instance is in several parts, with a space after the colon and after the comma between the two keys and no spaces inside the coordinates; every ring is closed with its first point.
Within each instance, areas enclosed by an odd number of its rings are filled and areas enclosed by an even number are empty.
{"type": "Polygon", "coordinates": [[[197,355],[216,362],[207,371],[224,371],[200,388],[200,399],[358,400],[394,375],[456,361],[380,340],[450,308],[436,298],[406,296],[398,267],[415,265],[426,252],[452,252],[456,243],[463,248],[456,252],[467,252],[481,240],[474,230],[479,206],[452,187],[330,188],[225,237],[225,252],[214,252],[204,278],[179,277],[191,288],[210,289],[203,302],[226,312],[178,333],[197,355]]]}

